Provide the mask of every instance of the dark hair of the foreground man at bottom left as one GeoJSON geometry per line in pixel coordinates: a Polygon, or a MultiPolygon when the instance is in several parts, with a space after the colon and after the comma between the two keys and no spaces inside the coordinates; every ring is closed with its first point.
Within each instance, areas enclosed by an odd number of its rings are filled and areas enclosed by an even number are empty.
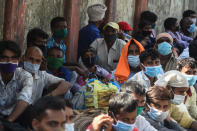
{"type": "Polygon", "coordinates": [[[65,110],[65,103],[59,97],[42,97],[33,105],[32,120],[37,119],[41,121],[45,115],[45,111],[48,109],[65,110]]]}

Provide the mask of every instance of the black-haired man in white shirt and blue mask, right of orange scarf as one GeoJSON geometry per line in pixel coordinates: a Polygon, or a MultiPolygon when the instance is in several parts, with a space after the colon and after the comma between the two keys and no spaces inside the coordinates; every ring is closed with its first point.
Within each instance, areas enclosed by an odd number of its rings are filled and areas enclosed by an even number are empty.
{"type": "Polygon", "coordinates": [[[159,53],[154,49],[145,50],[140,54],[140,67],[142,71],[136,73],[129,81],[137,81],[147,91],[149,87],[163,74],[159,53]]]}

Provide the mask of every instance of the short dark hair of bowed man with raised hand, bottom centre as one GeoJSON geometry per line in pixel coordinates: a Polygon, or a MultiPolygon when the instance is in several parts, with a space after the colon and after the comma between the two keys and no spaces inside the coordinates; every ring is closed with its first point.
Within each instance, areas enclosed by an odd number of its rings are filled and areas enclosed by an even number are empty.
{"type": "Polygon", "coordinates": [[[117,93],[109,100],[109,112],[113,112],[114,115],[120,114],[121,111],[133,112],[137,109],[137,101],[134,98],[124,92],[117,93]]]}

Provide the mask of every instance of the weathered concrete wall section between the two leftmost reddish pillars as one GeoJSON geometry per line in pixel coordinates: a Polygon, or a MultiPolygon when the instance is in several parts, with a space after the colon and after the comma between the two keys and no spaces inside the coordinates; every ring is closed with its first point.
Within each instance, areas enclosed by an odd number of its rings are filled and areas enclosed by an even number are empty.
{"type": "Polygon", "coordinates": [[[29,29],[39,27],[50,34],[50,21],[63,16],[64,0],[26,0],[25,36],[29,29]]]}

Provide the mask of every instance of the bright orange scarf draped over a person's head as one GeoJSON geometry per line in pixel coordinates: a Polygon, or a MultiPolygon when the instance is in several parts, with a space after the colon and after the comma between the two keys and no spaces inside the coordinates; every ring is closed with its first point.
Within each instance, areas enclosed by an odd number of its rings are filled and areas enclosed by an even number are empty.
{"type": "Polygon", "coordinates": [[[119,62],[118,62],[118,65],[116,67],[116,71],[114,74],[114,76],[116,77],[116,80],[119,81],[120,83],[127,81],[130,75],[130,68],[129,68],[129,62],[128,62],[128,49],[132,40],[139,47],[140,53],[144,51],[144,47],[135,39],[131,39],[122,48],[121,56],[120,56],[120,59],[119,59],[119,62]]]}

